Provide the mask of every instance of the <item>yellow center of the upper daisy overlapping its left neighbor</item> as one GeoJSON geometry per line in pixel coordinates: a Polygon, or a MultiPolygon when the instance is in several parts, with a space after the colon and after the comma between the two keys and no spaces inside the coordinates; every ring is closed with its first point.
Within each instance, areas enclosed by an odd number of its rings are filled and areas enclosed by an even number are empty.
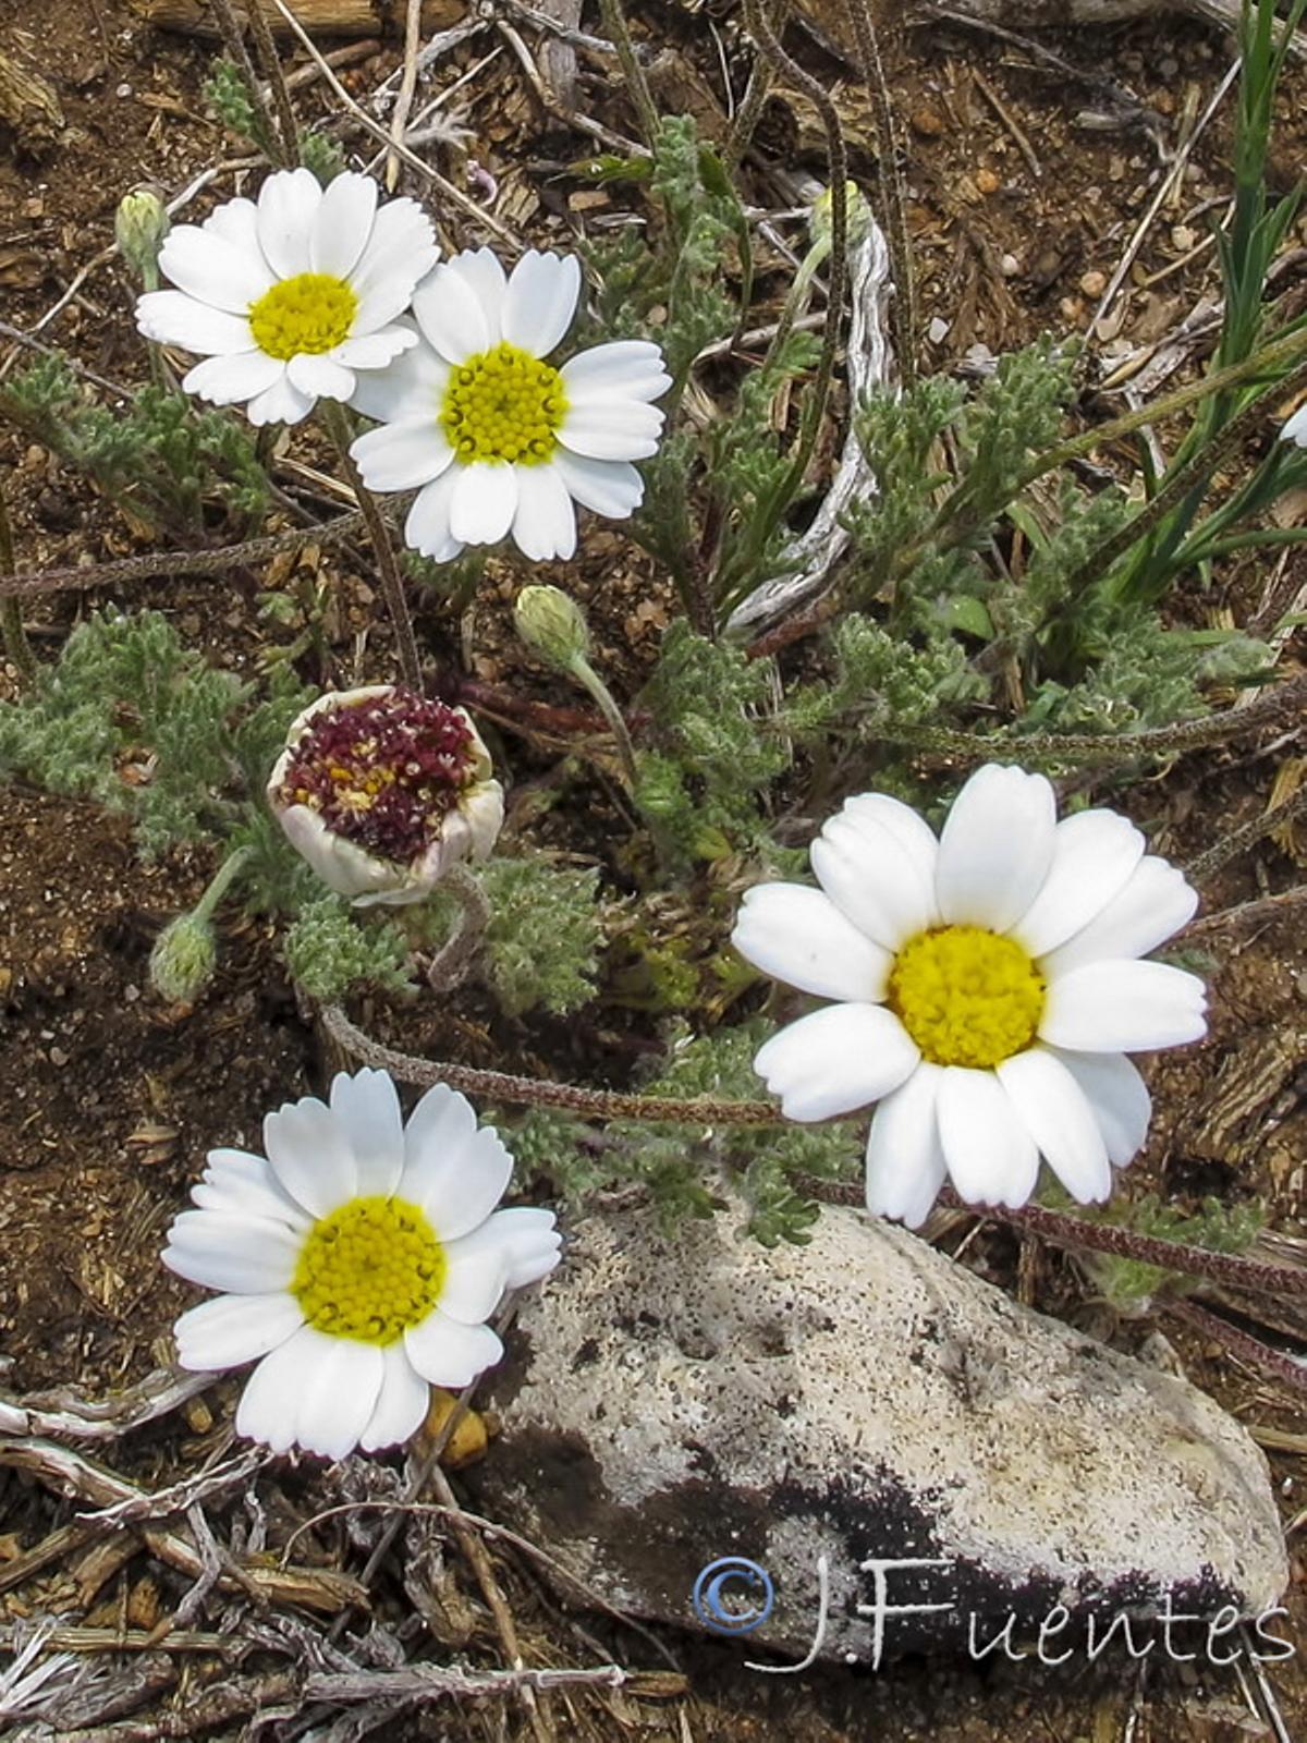
{"type": "Polygon", "coordinates": [[[504,343],[451,371],[439,420],[465,465],[538,465],[558,446],[566,408],[558,370],[504,343]]]}

